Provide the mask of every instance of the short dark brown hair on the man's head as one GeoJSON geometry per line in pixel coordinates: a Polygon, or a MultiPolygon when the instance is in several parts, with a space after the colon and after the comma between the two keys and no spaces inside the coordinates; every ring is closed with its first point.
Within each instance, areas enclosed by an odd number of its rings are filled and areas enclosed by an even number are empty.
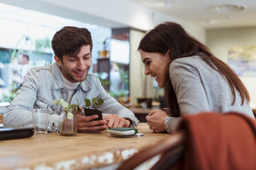
{"type": "Polygon", "coordinates": [[[76,56],[83,45],[89,45],[92,52],[92,36],[86,28],[63,27],[52,38],[52,49],[61,61],[63,55],[76,56]]]}

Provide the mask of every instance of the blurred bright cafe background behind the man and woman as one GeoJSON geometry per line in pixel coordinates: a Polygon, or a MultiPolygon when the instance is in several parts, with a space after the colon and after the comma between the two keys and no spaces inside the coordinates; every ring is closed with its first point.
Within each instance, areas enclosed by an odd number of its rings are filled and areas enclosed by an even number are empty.
{"type": "Polygon", "coordinates": [[[252,0],[0,0],[0,113],[32,66],[54,62],[51,40],[64,26],[92,33],[90,71],[121,104],[164,107],[163,89],[144,75],[137,51],[142,36],[164,21],[180,23],[228,63],[256,108],[255,13],[252,0]]]}

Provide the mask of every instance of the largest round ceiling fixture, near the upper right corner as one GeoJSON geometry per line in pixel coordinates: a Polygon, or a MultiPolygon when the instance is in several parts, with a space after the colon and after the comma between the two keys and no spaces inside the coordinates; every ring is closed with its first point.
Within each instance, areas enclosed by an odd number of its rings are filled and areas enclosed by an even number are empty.
{"type": "Polygon", "coordinates": [[[229,5],[213,5],[209,7],[209,10],[211,12],[217,12],[217,13],[231,13],[231,12],[238,12],[246,9],[246,5],[234,5],[234,4],[229,4],[229,5]]]}

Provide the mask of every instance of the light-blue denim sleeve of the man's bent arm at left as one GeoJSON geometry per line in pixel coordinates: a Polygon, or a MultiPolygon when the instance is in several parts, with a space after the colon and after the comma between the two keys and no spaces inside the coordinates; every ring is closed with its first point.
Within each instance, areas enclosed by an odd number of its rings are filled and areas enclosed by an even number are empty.
{"type": "MultiPolygon", "coordinates": [[[[3,123],[5,125],[20,127],[33,126],[31,110],[34,108],[34,104],[39,102],[37,99],[37,93],[39,93],[39,89],[41,88],[39,79],[39,72],[35,71],[35,69],[31,69],[28,72],[23,86],[17,92],[17,96],[3,113],[3,123]]],[[[41,108],[47,108],[47,105],[41,108]]],[[[47,127],[48,131],[58,132],[59,122],[59,115],[50,114],[47,127]]]]}

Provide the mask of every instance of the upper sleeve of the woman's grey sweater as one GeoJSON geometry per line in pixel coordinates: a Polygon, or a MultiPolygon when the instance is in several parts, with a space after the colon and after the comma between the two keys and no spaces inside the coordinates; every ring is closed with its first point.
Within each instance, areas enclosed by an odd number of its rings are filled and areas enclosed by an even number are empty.
{"type": "Polygon", "coordinates": [[[193,63],[174,60],[169,73],[182,116],[210,110],[200,74],[193,63]]]}

